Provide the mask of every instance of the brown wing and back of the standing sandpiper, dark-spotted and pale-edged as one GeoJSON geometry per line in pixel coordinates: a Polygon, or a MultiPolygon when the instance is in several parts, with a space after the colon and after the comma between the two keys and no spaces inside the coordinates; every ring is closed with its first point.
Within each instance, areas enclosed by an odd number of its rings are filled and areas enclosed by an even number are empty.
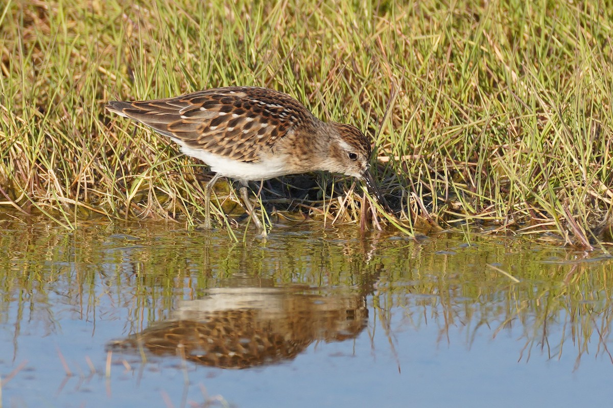
{"type": "Polygon", "coordinates": [[[152,127],[162,135],[213,154],[257,161],[314,116],[294,98],[259,87],[207,89],[175,98],[110,102],[108,108],[152,127]]]}

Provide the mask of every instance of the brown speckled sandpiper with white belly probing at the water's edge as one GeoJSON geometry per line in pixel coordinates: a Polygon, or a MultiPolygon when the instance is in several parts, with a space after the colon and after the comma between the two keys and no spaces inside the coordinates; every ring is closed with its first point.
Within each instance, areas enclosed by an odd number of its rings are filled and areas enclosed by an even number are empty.
{"type": "Polygon", "coordinates": [[[323,122],[294,98],[262,87],[223,87],[142,102],[112,101],[109,111],[168,136],[215,176],[205,186],[205,228],[211,228],[211,190],[219,177],[238,180],[259,231],[248,182],[326,170],[363,180],[386,204],[370,174],[370,141],[352,125],[323,122]]]}

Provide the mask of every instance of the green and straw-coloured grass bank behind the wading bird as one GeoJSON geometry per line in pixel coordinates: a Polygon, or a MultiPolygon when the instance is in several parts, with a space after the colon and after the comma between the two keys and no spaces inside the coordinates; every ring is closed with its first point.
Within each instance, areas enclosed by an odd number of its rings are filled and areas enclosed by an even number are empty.
{"type": "MultiPolygon", "coordinates": [[[[611,21],[604,1],[9,0],[0,209],[67,228],[95,213],[198,224],[202,167],[104,103],[256,85],[373,138],[400,218],[375,227],[554,232],[589,248],[611,240],[611,21]]],[[[349,183],[286,177],[264,184],[263,205],[363,219],[349,183]]]]}

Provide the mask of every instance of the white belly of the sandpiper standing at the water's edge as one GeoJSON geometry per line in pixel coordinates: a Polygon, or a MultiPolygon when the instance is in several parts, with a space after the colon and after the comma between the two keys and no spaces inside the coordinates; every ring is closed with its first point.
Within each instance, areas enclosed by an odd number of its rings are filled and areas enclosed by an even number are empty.
{"type": "MultiPolygon", "coordinates": [[[[175,141],[177,141],[175,139],[175,141]]],[[[217,154],[194,149],[177,141],[181,145],[181,151],[188,156],[196,157],[210,166],[211,171],[224,177],[237,180],[268,180],[286,174],[292,174],[285,166],[282,157],[275,157],[258,163],[245,163],[244,161],[232,160],[217,154]]]]}

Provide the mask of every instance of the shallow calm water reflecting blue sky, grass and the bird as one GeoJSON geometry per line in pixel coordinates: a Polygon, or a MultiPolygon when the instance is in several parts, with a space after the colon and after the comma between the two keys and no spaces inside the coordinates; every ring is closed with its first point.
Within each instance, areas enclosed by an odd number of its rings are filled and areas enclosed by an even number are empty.
{"type": "Polygon", "coordinates": [[[613,397],[601,251],[314,223],[246,243],[176,224],[1,224],[2,407],[613,397]]]}

